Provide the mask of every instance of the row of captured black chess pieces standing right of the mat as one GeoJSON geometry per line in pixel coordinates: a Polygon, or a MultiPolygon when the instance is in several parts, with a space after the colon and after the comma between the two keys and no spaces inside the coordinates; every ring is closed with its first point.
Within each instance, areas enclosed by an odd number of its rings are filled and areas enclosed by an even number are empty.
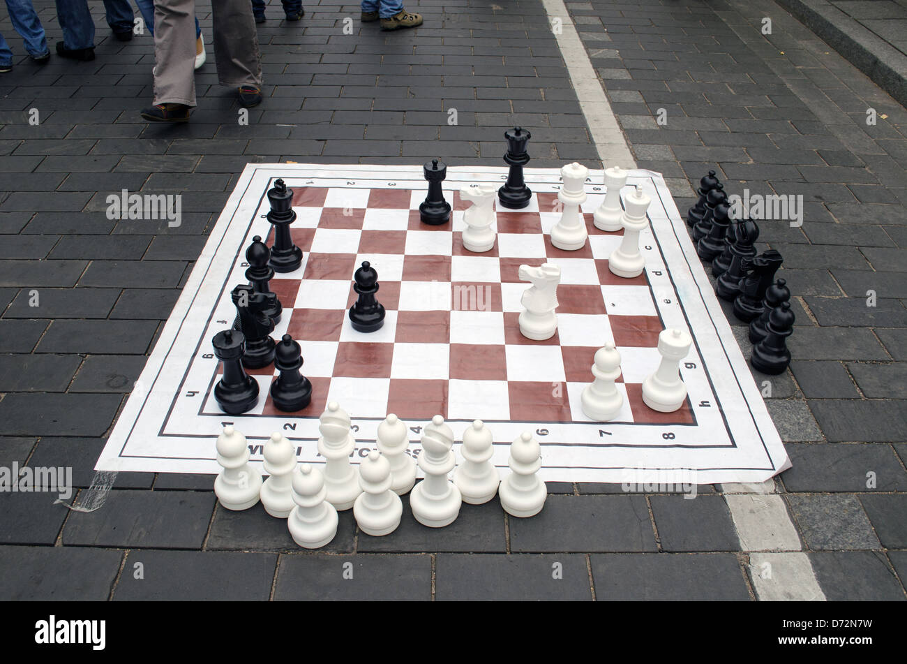
{"type": "Polygon", "coordinates": [[[697,254],[711,264],[717,296],[732,301],[734,315],[749,323],[750,364],[764,374],[780,374],[790,364],[786,340],[795,319],[785,279],[775,281],[784,259],[775,249],[756,256],[759,227],[751,219],[731,219],[727,193],[715,171],[699,181],[697,193],[699,199],[687,213],[697,254]]]}

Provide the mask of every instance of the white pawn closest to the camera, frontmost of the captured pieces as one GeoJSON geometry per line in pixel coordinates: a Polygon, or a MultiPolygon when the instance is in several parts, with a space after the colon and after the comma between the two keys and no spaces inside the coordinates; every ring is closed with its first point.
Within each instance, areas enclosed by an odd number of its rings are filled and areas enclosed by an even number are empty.
{"type": "Polygon", "coordinates": [[[306,549],[318,549],[337,533],[337,511],[325,500],[325,478],[311,464],[302,464],[293,474],[293,502],[287,525],[293,542],[306,549]]]}

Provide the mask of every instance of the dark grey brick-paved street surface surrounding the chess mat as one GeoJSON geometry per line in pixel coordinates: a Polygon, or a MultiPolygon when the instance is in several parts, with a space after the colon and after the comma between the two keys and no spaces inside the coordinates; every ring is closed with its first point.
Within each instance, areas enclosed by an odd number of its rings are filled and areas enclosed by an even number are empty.
{"type": "MultiPolygon", "coordinates": [[[[210,3],[198,5],[210,35],[210,3]]],[[[35,6],[53,49],[53,3],[35,6]]],[[[789,516],[793,543],[756,548],[805,558],[755,552],[733,487],[684,500],[555,484],[532,520],[507,519],[495,500],[464,505],[437,532],[405,508],[384,538],[342,513],[334,542],[301,552],[260,505],[219,508],[210,476],[119,474],[93,513],[48,493],[0,494],[0,569],[16,570],[0,574],[0,597],[753,600],[773,596],[759,575],[775,560],[808,561],[828,600],[905,599],[907,112],[768,0],[566,7],[639,167],[665,174],[679,209],[708,169],[731,193],[803,197],[802,225],[760,222],[759,248],[785,256],[797,325],[791,369],[756,376],[794,464],[764,501],[789,516]]],[[[520,124],[532,128],[532,165],[600,167],[539,0],[407,9],[424,25],[385,34],[359,24],[357,5],[307,3],[288,24],[272,2],[258,26],[266,100],[248,126],[213,63],[196,74],[190,123],[141,122],[151,38],[114,41],[102,14],[95,61],[54,55],[40,69],[0,21],[15,50],[0,74],[0,466],[72,466],[76,487],[92,483],[249,161],[500,165],[502,130],[520,124]],[[182,224],[108,220],[105,198],[122,189],[182,193],[182,224]]]]}

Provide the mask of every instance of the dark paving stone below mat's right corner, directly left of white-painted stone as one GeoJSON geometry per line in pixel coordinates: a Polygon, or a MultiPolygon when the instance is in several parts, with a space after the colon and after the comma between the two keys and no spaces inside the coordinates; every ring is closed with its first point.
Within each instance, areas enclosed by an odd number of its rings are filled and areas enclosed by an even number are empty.
{"type": "Polygon", "coordinates": [[[740,541],[721,496],[688,500],[679,495],[658,495],[649,501],[664,551],[739,551],[740,541]]]}

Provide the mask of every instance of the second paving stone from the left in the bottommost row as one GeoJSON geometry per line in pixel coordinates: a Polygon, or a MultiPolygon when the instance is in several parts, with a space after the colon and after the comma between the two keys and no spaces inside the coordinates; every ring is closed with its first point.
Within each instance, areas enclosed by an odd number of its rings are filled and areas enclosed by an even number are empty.
{"type": "Polygon", "coordinates": [[[266,601],[277,562],[276,553],[131,551],[113,599],[266,601]]]}

